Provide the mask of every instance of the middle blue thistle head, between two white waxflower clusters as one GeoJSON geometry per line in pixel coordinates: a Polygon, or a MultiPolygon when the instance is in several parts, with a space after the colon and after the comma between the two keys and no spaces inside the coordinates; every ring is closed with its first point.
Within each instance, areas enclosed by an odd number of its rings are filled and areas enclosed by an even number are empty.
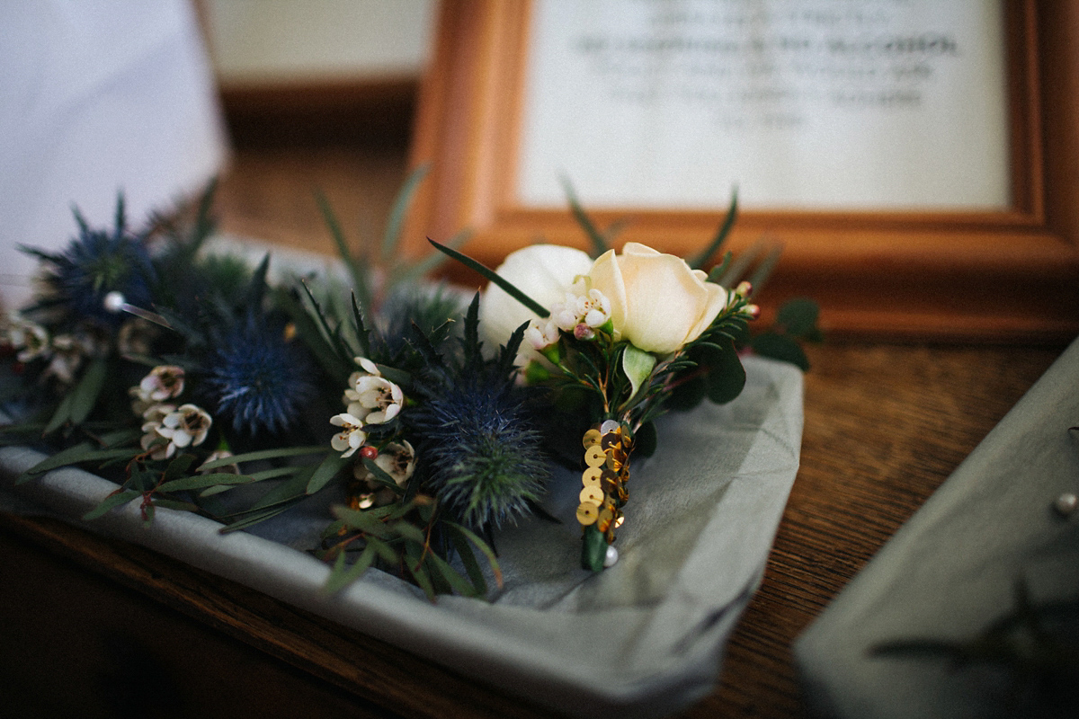
{"type": "Polygon", "coordinates": [[[214,416],[236,432],[257,435],[290,429],[315,393],[314,368],[281,322],[248,317],[207,360],[205,390],[214,416]]]}

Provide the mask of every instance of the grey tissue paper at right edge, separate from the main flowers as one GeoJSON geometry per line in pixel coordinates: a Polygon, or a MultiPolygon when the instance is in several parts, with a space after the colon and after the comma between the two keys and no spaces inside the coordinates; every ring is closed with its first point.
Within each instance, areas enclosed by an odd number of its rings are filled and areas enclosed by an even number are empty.
{"type": "MultiPolygon", "coordinates": [[[[1079,341],[798,637],[795,658],[815,714],[1044,716],[1047,695],[999,663],[870,649],[969,641],[1014,610],[1019,581],[1035,606],[1079,598],[1079,512],[1065,517],[1052,508],[1062,494],[1079,493],[1076,425],[1079,341]]],[[[1079,647],[1076,618],[1054,631],[1079,647]]],[[[1079,694],[1075,701],[1066,716],[1079,716],[1079,694]]]]}

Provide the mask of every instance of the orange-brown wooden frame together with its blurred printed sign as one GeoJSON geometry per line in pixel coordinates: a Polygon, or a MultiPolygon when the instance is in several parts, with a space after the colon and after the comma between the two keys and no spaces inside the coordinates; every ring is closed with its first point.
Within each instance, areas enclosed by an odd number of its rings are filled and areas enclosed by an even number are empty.
{"type": "Polygon", "coordinates": [[[1079,0],[445,0],[409,235],[782,244],[836,334],[1079,332],[1079,0]]]}

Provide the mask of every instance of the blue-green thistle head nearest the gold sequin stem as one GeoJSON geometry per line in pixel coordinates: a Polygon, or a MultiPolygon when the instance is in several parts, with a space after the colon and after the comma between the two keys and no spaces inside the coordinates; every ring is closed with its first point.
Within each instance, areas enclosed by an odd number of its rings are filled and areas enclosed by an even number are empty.
{"type": "Polygon", "coordinates": [[[449,387],[414,416],[428,486],[456,518],[501,527],[530,511],[549,470],[542,437],[511,385],[449,387]]]}

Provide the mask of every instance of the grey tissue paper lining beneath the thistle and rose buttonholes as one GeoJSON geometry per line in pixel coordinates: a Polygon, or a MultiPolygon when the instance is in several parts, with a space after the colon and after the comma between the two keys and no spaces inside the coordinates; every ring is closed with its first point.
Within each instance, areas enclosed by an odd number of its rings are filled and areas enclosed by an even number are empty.
{"type": "MultiPolygon", "coordinates": [[[[490,604],[432,604],[377,570],[336,597],[320,594],[327,567],[298,550],[325,526],[328,493],[257,527],[261,536],[222,537],[220,525],[168,510],[144,529],[135,506],[90,527],[571,715],[660,716],[714,689],[724,641],[760,584],[798,467],[801,372],[760,358],[747,358],[746,369],[734,402],[660,420],[658,451],[632,464],[614,567],[598,576],[578,568],[581,480],[565,472],[547,502],[561,524],[533,518],[497,533],[505,587],[490,604]]],[[[11,503],[11,480],[39,459],[26,448],[0,451],[9,509],[27,511],[11,503]]],[[[18,501],[70,518],[113,488],[63,469],[15,489],[18,501]]]]}

